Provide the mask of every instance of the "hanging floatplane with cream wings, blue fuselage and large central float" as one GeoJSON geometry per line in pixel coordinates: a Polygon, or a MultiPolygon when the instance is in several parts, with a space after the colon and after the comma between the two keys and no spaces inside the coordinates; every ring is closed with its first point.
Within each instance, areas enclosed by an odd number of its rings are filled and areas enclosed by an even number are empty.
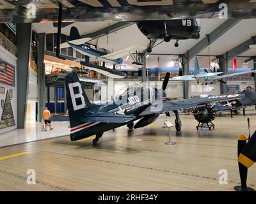
{"type": "Polygon", "coordinates": [[[102,75],[113,78],[124,78],[126,74],[122,71],[115,70],[116,64],[122,64],[122,57],[131,54],[132,52],[142,52],[146,47],[143,46],[133,46],[125,48],[124,50],[119,50],[117,52],[110,52],[105,48],[99,48],[96,45],[88,43],[92,38],[81,38],[79,31],[76,27],[72,26],[70,29],[70,35],[68,41],[60,44],[60,48],[72,47],[77,52],[86,55],[84,61],[80,61],[80,64],[86,67],[89,67],[93,71],[97,71],[102,75]],[[93,64],[90,62],[90,59],[93,61],[103,62],[102,66],[93,64]],[[105,63],[113,64],[113,69],[107,68],[105,63]]]}

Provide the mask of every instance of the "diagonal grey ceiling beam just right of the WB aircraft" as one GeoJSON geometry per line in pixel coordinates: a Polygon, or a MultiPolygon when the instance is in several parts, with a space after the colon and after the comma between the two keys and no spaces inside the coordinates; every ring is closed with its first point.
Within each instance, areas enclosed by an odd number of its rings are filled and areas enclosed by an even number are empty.
{"type": "Polygon", "coordinates": [[[195,57],[198,53],[200,53],[202,50],[207,48],[207,46],[211,45],[215,40],[220,38],[224,33],[226,33],[230,28],[232,28],[234,25],[236,25],[238,22],[240,22],[241,19],[228,19],[223,24],[221,24],[219,27],[217,27],[212,33],[207,34],[205,38],[201,41],[199,41],[194,47],[192,47],[190,50],[188,50],[183,56],[182,61],[190,61],[195,57]]]}

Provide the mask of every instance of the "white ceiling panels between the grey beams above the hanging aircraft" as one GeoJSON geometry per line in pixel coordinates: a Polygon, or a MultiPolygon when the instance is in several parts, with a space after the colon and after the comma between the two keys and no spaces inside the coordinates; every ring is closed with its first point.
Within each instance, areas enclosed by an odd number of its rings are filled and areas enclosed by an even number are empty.
{"type": "MultiPolygon", "coordinates": [[[[175,40],[171,40],[169,43],[163,42],[157,47],[152,49],[152,54],[185,54],[187,50],[191,49],[200,40],[205,38],[206,34],[210,34],[214,29],[223,24],[225,19],[200,19],[200,39],[198,40],[180,40],[179,47],[175,48],[175,40]]],[[[72,25],[62,29],[63,34],[69,34],[70,27],[76,26],[79,29],[80,34],[90,34],[100,29],[109,27],[110,25],[116,24],[116,22],[75,22],[72,25]]],[[[40,23],[33,24],[35,31],[37,33],[56,33],[56,27],[52,26],[52,23],[40,23]]],[[[246,40],[249,40],[252,36],[256,36],[256,19],[246,19],[238,22],[234,27],[224,33],[220,38],[214,41],[209,47],[202,50],[199,55],[221,55],[228,50],[240,45],[246,40]]],[[[158,40],[157,43],[161,42],[158,40]]],[[[138,29],[136,24],[129,25],[123,29],[104,35],[100,37],[97,41],[99,47],[108,48],[113,52],[122,50],[127,47],[132,47],[134,45],[148,45],[149,40],[144,36],[138,29]]],[[[256,48],[251,48],[250,50],[241,54],[243,56],[254,56],[256,55],[256,48]]],[[[173,57],[175,58],[175,57],[173,57]]],[[[156,59],[156,56],[150,55],[148,59],[156,59]]]]}

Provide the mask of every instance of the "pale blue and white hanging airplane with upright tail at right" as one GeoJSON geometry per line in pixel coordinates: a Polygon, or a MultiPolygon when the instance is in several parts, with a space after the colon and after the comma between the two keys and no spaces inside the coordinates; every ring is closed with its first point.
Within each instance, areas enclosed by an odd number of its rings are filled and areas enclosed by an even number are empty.
{"type": "Polygon", "coordinates": [[[256,69],[252,71],[244,71],[240,73],[233,73],[230,75],[221,75],[223,72],[204,71],[200,70],[198,59],[195,57],[195,74],[194,75],[184,75],[179,77],[170,78],[171,81],[197,81],[197,84],[207,85],[207,84],[216,84],[217,82],[226,83],[223,81],[223,78],[235,77],[238,75],[244,75],[248,73],[256,73],[256,69]],[[220,75],[220,76],[219,76],[220,75]]]}

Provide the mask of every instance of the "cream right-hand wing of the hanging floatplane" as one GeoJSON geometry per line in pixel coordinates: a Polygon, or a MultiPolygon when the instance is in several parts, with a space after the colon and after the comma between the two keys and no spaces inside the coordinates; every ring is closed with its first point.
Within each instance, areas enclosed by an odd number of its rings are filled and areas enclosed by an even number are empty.
{"type": "Polygon", "coordinates": [[[125,48],[124,50],[119,50],[117,52],[112,52],[112,53],[109,53],[109,54],[106,54],[106,55],[102,55],[100,57],[104,57],[106,59],[118,59],[118,58],[122,58],[126,55],[129,55],[131,52],[136,52],[136,50],[138,52],[142,52],[143,50],[145,50],[147,47],[145,46],[141,46],[141,45],[136,45],[136,46],[133,46],[133,47],[129,47],[129,48],[125,48]]]}

